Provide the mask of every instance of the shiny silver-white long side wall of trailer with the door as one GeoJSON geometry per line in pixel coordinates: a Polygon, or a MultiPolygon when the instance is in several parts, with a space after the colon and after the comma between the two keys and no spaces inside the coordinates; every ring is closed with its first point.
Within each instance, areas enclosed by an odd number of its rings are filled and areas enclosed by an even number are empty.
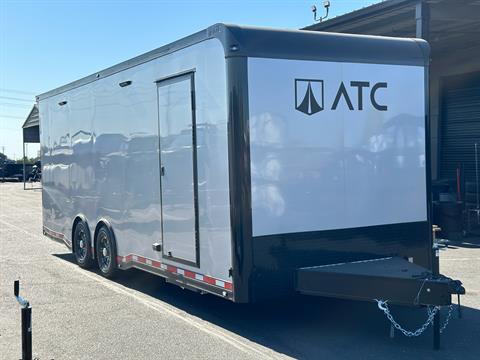
{"type": "Polygon", "coordinates": [[[98,80],[39,105],[46,229],[71,246],[76,217],[88,222],[92,239],[103,220],[114,231],[120,265],[132,257],[146,264],[182,263],[184,270],[229,281],[228,116],[220,41],[206,40],[107,77],[100,73],[98,80]],[[131,85],[119,86],[124,81],[131,85]],[[156,242],[163,251],[153,250],[156,242]]]}

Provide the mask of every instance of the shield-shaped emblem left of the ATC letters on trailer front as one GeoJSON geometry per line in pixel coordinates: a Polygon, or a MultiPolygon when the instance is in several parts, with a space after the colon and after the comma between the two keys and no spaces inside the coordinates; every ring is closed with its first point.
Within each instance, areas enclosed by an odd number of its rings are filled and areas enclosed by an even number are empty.
{"type": "Polygon", "coordinates": [[[295,79],[295,109],[307,115],[323,110],[323,80],[295,79]]]}

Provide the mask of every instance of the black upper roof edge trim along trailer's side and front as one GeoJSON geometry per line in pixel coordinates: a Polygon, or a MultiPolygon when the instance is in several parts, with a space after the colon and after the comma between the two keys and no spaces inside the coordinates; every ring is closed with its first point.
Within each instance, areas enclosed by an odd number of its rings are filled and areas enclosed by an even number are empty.
{"type": "Polygon", "coordinates": [[[421,39],[215,24],[173,43],[43,93],[37,96],[37,101],[212,38],[221,41],[226,58],[249,56],[417,66],[426,66],[429,61],[429,46],[421,39]]]}

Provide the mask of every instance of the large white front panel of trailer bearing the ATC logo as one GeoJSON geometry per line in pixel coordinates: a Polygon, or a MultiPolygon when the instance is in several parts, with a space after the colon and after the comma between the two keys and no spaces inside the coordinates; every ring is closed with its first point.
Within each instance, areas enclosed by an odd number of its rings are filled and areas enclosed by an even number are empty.
{"type": "Polygon", "coordinates": [[[250,58],[248,81],[254,236],[426,220],[422,67],[250,58]]]}

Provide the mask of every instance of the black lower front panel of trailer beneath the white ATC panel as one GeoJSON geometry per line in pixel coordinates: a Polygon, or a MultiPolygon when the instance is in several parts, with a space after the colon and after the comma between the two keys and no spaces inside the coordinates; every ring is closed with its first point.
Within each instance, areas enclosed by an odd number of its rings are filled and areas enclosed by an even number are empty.
{"type": "Polygon", "coordinates": [[[420,221],[253,237],[251,298],[293,294],[296,271],[308,266],[400,256],[430,268],[430,233],[420,221]]]}

